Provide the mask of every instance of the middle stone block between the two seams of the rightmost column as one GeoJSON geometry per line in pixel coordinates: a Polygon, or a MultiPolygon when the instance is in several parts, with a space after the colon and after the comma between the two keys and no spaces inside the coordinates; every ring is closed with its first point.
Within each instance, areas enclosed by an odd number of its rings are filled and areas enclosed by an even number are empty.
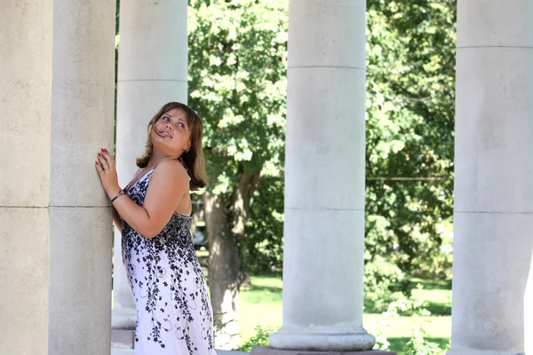
{"type": "Polygon", "coordinates": [[[533,47],[458,49],[456,211],[533,213],[531,63],[533,47]]]}

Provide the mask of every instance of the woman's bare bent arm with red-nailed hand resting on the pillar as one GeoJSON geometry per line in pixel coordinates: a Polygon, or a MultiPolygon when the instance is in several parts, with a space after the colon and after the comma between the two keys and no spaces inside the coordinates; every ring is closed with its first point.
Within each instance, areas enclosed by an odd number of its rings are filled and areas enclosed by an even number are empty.
{"type": "MultiPolygon", "coordinates": [[[[121,191],[113,156],[107,151],[102,152],[96,168],[104,191],[109,199],[113,199],[121,191]]],[[[171,219],[179,200],[187,193],[188,185],[187,171],[181,163],[161,162],[150,177],[143,206],[124,194],[113,201],[113,207],[131,228],[147,239],[154,238],[171,219]]]]}

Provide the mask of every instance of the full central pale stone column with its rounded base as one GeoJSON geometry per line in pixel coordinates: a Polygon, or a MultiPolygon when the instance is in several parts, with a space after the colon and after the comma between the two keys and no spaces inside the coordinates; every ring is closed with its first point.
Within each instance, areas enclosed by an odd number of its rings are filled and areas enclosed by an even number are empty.
{"type": "Polygon", "coordinates": [[[279,349],[364,351],[364,0],[290,0],[279,349]]]}

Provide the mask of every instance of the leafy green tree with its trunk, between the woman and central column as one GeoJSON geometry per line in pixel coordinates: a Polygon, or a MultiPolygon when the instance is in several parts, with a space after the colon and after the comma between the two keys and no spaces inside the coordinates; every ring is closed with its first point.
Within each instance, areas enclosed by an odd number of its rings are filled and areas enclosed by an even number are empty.
{"type": "MultiPolygon", "coordinates": [[[[236,323],[238,288],[249,269],[241,259],[252,260],[251,246],[260,242],[245,239],[245,230],[282,238],[279,227],[267,227],[275,218],[267,213],[272,208],[266,199],[282,201],[287,5],[285,0],[191,0],[189,6],[189,103],[203,117],[210,177],[203,196],[209,283],[214,312],[224,314],[221,323],[229,335],[236,331],[230,327],[236,323]],[[263,203],[251,212],[253,198],[263,203]],[[227,292],[231,307],[222,302],[227,292]]],[[[276,245],[265,250],[272,255],[280,248],[276,245]]]]}

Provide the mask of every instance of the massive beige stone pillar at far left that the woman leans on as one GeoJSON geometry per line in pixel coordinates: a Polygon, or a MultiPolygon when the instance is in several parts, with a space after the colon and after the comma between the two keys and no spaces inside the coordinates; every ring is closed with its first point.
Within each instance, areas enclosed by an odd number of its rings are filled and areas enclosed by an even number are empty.
{"type": "Polygon", "coordinates": [[[9,354],[108,354],[114,4],[0,10],[0,343],[9,354]]]}

